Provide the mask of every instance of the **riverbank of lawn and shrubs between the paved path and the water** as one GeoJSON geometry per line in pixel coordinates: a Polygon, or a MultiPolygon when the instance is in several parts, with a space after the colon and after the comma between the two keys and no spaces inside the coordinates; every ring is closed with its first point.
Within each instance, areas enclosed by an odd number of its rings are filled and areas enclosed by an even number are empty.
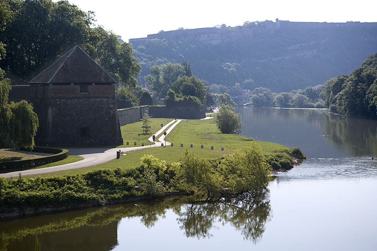
{"type": "Polygon", "coordinates": [[[272,156],[276,163],[290,159],[287,147],[221,134],[211,121],[181,122],[169,134],[170,142],[184,142],[188,147],[175,143],[173,147],[134,151],[105,164],[57,172],[53,176],[2,178],[1,218],[193,190],[204,191],[212,198],[234,196],[267,187],[271,174],[267,162],[271,158],[266,156],[272,156]],[[202,148],[199,142],[208,145],[202,148]]]}

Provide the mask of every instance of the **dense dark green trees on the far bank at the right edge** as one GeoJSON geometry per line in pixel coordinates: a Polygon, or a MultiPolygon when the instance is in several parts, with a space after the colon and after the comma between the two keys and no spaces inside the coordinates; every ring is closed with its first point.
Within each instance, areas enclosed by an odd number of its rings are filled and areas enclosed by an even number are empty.
{"type": "Polygon", "coordinates": [[[326,81],[321,94],[330,111],[377,119],[377,53],[351,75],[326,81]]]}

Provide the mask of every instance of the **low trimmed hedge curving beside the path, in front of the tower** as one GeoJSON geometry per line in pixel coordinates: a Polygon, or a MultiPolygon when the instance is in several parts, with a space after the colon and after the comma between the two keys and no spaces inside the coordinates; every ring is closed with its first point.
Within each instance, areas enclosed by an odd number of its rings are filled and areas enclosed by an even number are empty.
{"type": "Polygon", "coordinates": [[[55,161],[59,161],[68,157],[68,150],[66,149],[56,149],[56,148],[46,148],[46,147],[34,147],[35,152],[46,152],[54,153],[54,155],[44,156],[36,159],[25,159],[25,160],[15,160],[6,161],[0,163],[1,169],[18,168],[47,164],[55,161]]]}

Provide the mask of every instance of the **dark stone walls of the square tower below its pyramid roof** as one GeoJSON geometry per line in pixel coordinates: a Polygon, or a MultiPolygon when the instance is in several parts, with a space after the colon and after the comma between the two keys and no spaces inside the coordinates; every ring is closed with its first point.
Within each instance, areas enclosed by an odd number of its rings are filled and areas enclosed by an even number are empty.
{"type": "Polygon", "coordinates": [[[38,146],[123,144],[114,85],[12,86],[9,101],[27,100],[38,115],[38,146]]]}

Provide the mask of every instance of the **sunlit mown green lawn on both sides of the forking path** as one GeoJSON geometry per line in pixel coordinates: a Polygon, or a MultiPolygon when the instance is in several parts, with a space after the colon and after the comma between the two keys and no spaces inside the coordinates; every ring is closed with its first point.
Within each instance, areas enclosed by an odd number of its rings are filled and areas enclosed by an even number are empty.
{"type": "MultiPolygon", "coordinates": [[[[159,125],[162,123],[161,121],[166,122],[171,120],[151,119],[151,121],[152,123],[159,125]]],[[[134,123],[126,126],[133,128],[139,127],[135,124],[139,123],[134,123]]],[[[141,123],[139,125],[141,126],[141,123]]],[[[126,126],[122,126],[122,129],[125,130],[125,128],[127,128],[126,126]]],[[[237,149],[249,146],[252,143],[252,141],[254,141],[251,138],[247,138],[240,135],[220,133],[213,120],[181,121],[167,135],[166,140],[174,143],[174,146],[150,149],[147,148],[143,150],[131,151],[127,152],[127,155],[123,155],[119,159],[114,159],[104,164],[38,176],[77,174],[98,169],[115,169],[118,167],[122,169],[129,169],[138,166],[140,162],[140,157],[142,157],[144,154],[152,154],[159,159],[165,160],[166,162],[177,162],[179,161],[180,156],[182,156],[185,153],[186,149],[195,156],[201,156],[205,158],[216,158],[223,154],[233,153],[237,149]],[[181,144],[183,144],[184,147],[181,147],[181,144]],[[193,144],[193,148],[190,148],[190,144],[193,144]],[[201,148],[201,145],[203,145],[203,149],[201,148]],[[214,146],[214,150],[211,150],[211,146],[214,146]],[[222,147],[224,148],[224,151],[221,151],[222,147]]],[[[262,152],[264,154],[271,154],[288,150],[288,148],[285,146],[271,142],[255,142],[262,148],[262,152]]],[[[28,178],[32,176],[25,177],[28,178]]]]}

